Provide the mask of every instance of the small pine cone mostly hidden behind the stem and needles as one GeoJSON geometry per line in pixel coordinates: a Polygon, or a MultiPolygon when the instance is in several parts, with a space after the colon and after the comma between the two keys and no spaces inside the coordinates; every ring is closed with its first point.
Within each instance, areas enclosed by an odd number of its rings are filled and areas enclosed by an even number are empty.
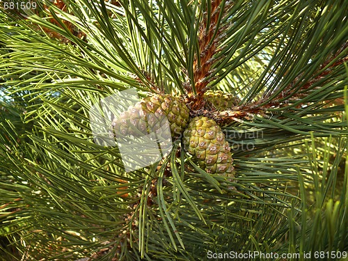
{"type": "Polygon", "coordinates": [[[240,101],[237,96],[231,93],[223,93],[221,90],[207,90],[204,97],[205,100],[211,102],[218,110],[229,109],[232,106],[236,106],[240,101]]]}

